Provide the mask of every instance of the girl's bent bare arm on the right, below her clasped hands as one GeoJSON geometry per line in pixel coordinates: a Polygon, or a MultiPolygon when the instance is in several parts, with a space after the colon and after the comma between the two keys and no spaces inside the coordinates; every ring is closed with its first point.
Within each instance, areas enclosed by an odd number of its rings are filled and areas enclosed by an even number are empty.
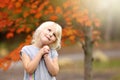
{"type": "Polygon", "coordinates": [[[49,73],[56,76],[59,72],[58,57],[51,59],[48,54],[45,54],[44,59],[49,73]]]}

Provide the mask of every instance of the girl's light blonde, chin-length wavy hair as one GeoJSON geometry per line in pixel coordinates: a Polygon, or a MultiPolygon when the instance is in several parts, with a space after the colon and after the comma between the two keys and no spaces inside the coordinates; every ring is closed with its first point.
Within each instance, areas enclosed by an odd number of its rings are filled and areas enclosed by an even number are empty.
{"type": "Polygon", "coordinates": [[[55,34],[56,34],[56,38],[57,38],[57,39],[56,39],[56,41],[55,41],[54,43],[50,44],[49,46],[50,46],[50,48],[52,48],[52,49],[58,50],[58,49],[61,48],[62,27],[61,27],[59,24],[57,24],[57,23],[55,23],[55,22],[53,22],[53,21],[46,21],[46,22],[42,23],[42,24],[35,30],[35,32],[34,32],[34,34],[33,34],[32,44],[35,43],[35,42],[38,42],[38,41],[40,40],[40,39],[39,39],[40,32],[41,32],[44,28],[46,28],[46,27],[48,27],[48,26],[54,26],[54,27],[56,27],[56,32],[55,32],[55,34]]]}

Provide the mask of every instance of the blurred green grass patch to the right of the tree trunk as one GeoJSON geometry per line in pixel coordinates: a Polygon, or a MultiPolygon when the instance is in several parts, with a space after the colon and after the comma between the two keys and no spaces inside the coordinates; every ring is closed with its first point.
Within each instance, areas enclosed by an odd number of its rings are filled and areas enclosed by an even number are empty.
{"type": "Polygon", "coordinates": [[[113,74],[110,80],[120,80],[120,59],[112,59],[107,63],[93,62],[93,72],[113,74]]]}

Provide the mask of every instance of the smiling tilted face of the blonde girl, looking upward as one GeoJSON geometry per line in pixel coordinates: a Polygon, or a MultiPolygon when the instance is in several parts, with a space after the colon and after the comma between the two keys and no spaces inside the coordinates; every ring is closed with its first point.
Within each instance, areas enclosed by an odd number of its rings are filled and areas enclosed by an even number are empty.
{"type": "Polygon", "coordinates": [[[47,26],[40,34],[41,42],[43,45],[48,45],[56,41],[56,27],[47,26]]]}

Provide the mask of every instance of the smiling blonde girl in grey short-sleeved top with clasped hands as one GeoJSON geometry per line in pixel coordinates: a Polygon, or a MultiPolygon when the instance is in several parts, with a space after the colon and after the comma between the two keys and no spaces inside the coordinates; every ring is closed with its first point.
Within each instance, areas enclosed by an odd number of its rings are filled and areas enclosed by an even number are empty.
{"type": "Polygon", "coordinates": [[[56,80],[62,27],[52,21],[42,23],[34,32],[32,44],[21,49],[24,80],[56,80]]]}

